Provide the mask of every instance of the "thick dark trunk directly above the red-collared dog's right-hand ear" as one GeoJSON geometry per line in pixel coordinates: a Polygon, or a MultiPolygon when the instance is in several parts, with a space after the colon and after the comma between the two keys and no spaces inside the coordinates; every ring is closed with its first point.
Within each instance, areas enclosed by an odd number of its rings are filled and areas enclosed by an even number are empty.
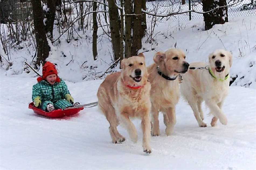
{"type": "Polygon", "coordinates": [[[132,56],[136,56],[138,50],[141,49],[141,0],[134,1],[134,14],[133,17],[133,42],[132,42],[132,56]]]}

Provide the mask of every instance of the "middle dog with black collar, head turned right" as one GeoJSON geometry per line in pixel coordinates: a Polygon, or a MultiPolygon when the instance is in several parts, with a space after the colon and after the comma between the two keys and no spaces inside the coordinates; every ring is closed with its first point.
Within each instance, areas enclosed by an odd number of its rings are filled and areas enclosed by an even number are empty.
{"type": "Polygon", "coordinates": [[[176,124],[175,106],[179,101],[178,74],[188,71],[189,64],[185,61],[185,53],[179,49],[168,49],[157,52],[154,64],[147,67],[151,83],[150,100],[153,117],[151,135],[160,135],[159,111],[164,113],[165,132],[171,135],[176,124]]]}

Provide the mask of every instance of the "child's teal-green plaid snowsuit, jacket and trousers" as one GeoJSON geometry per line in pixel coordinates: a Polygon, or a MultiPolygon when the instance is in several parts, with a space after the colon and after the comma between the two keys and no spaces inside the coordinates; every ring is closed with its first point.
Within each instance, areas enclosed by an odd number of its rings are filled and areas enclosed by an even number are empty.
{"type": "Polygon", "coordinates": [[[47,104],[51,103],[55,109],[63,109],[72,106],[67,100],[65,95],[70,94],[68,87],[63,80],[55,82],[54,85],[49,84],[47,81],[42,80],[33,85],[32,100],[39,96],[41,100],[41,109],[46,110],[47,104]]]}

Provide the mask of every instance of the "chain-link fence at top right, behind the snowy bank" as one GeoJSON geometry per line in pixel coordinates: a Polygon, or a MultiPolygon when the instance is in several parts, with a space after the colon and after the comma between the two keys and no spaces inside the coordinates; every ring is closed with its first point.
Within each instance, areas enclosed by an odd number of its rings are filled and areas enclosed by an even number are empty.
{"type": "MultiPolygon", "coordinates": [[[[146,8],[148,12],[156,13],[160,15],[167,15],[175,12],[184,12],[188,10],[195,10],[197,12],[203,12],[202,2],[200,0],[186,0],[184,5],[181,4],[181,0],[149,0],[146,2],[146,8]]],[[[255,0],[228,0],[228,16],[252,16],[256,15],[256,1],[255,0]]],[[[151,21],[153,16],[148,16],[147,21],[151,21]]],[[[162,17],[158,17],[160,21],[162,17]]],[[[190,12],[179,15],[167,17],[165,20],[171,21],[189,21],[195,19],[203,19],[203,14],[190,12]]]]}

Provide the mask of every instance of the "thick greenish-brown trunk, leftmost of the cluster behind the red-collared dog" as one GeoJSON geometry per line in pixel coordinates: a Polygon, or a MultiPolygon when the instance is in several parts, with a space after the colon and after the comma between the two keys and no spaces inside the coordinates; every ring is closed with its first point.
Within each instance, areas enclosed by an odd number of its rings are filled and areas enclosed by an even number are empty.
{"type": "Polygon", "coordinates": [[[108,11],[109,11],[109,23],[110,23],[110,33],[112,39],[112,46],[114,51],[115,61],[120,58],[120,26],[119,26],[119,13],[117,6],[115,5],[115,0],[108,1],[108,11]]]}

